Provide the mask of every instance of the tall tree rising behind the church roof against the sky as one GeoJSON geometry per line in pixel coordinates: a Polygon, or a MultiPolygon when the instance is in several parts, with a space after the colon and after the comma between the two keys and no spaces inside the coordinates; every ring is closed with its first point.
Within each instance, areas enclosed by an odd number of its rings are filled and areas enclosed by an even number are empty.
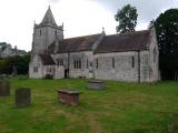
{"type": "Polygon", "coordinates": [[[119,21],[119,25],[116,27],[116,31],[121,33],[135,31],[137,17],[138,14],[136,7],[131,7],[130,4],[127,4],[121,10],[118,10],[115,16],[116,21],[119,21]]]}

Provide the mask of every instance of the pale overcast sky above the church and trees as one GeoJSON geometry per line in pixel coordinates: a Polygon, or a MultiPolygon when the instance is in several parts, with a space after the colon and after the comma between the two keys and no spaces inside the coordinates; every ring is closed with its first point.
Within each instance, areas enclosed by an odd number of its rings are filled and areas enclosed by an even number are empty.
{"type": "Polygon", "coordinates": [[[178,0],[0,0],[0,42],[18,49],[31,50],[33,23],[41,22],[48,6],[58,24],[65,23],[65,38],[100,33],[116,33],[113,16],[130,3],[138,10],[137,30],[145,30],[149,21],[178,0]]]}

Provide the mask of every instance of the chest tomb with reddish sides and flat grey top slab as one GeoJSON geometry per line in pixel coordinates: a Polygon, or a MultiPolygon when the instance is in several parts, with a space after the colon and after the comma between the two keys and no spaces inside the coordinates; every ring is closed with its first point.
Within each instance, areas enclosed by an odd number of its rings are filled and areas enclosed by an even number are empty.
{"type": "Polygon", "coordinates": [[[69,89],[57,90],[57,92],[60,102],[71,106],[76,106],[79,104],[79,94],[81,92],[69,89]]]}

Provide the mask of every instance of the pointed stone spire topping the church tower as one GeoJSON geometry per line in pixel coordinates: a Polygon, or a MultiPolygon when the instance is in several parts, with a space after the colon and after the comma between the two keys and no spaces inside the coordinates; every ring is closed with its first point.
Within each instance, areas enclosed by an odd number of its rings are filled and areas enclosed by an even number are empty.
{"type": "Polygon", "coordinates": [[[44,24],[52,24],[52,25],[57,27],[57,23],[55,21],[55,18],[53,18],[53,14],[52,14],[50,7],[48,8],[48,10],[42,19],[42,22],[40,23],[40,25],[44,25],[44,24]]]}

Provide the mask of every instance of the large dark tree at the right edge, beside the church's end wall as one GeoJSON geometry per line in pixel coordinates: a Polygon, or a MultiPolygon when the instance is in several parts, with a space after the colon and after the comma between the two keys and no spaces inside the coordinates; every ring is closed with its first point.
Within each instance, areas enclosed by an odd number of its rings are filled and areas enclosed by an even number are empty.
{"type": "Polygon", "coordinates": [[[155,21],[161,78],[178,80],[178,9],[169,9],[155,21]]]}

